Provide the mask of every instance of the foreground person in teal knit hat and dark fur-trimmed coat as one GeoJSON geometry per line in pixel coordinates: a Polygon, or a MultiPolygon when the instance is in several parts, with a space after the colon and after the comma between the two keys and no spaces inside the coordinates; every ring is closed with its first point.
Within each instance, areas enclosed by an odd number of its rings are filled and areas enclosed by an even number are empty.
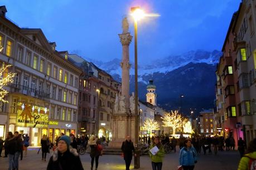
{"type": "Polygon", "coordinates": [[[70,137],[61,136],[58,146],[47,166],[47,170],[84,170],[76,149],[70,146],[70,137]]]}

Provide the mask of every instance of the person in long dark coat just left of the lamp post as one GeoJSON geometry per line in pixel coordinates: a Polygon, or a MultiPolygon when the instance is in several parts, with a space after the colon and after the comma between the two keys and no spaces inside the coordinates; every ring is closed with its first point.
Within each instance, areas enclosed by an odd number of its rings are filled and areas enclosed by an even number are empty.
{"type": "MultiPolygon", "coordinates": [[[[150,141],[150,138],[149,138],[150,141]]],[[[134,152],[134,157],[136,157],[135,148],[133,146],[133,143],[131,141],[131,137],[127,136],[126,141],[122,143],[122,152],[124,154],[124,161],[125,161],[125,167],[126,170],[130,169],[130,165],[132,162],[132,151],[134,152]]]]}

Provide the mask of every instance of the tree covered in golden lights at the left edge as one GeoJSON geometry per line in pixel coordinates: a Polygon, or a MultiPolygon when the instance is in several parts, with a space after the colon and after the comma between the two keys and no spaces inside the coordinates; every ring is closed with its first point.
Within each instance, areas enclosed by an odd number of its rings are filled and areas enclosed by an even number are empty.
{"type": "Polygon", "coordinates": [[[5,63],[2,64],[0,68],[0,102],[6,102],[4,99],[4,96],[8,93],[6,89],[4,89],[4,86],[7,86],[9,83],[13,82],[13,77],[15,77],[16,73],[8,73],[8,67],[11,67],[11,65],[6,65],[5,63]]]}

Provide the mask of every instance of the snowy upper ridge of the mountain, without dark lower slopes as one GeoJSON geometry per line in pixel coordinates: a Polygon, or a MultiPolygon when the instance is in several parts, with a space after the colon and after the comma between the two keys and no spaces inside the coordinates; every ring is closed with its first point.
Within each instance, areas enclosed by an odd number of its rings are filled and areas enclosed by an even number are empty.
{"type": "MultiPolygon", "coordinates": [[[[220,51],[207,52],[203,50],[190,51],[180,55],[168,56],[166,58],[156,59],[149,64],[138,64],[138,74],[140,76],[153,73],[167,73],[173,71],[179,67],[186,66],[188,63],[207,63],[216,64],[219,62],[221,56],[220,51]]],[[[94,59],[86,58],[87,61],[93,62],[96,66],[104,71],[108,72],[115,78],[117,75],[122,75],[122,69],[120,68],[121,58],[114,58],[109,62],[95,61],[94,59]]],[[[130,74],[134,74],[134,64],[130,70],[130,74]]],[[[120,78],[120,77],[119,77],[120,78]]],[[[118,79],[119,79],[118,78],[118,79]]],[[[141,81],[143,81],[141,79],[141,81]]]]}

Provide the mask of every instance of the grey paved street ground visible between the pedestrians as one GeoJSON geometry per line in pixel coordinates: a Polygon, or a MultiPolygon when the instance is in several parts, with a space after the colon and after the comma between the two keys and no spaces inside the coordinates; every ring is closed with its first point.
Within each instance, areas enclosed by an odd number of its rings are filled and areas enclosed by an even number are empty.
{"type": "MultiPolygon", "coordinates": [[[[50,156],[47,156],[47,160],[49,160],[49,158],[50,156]]],[[[238,167],[239,159],[240,158],[238,151],[219,152],[217,156],[213,154],[207,154],[206,156],[200,155],[195,170],[235,170],[238,167]]],[[[81,156],[81,161],[83,162],[85,170],[90,169],[90,156],[88,153],[86,153],[84,156],[81,156]]],[[[41,152],[37,154],[37,151],[35,150],[28,151],[28,156],[20,161],[20,170],[46,169],[47,163],[48,162],[41,161],[41,152]]],[[[178,153],[172,152],[170,154],[167,154],[163,161],[163,170],[176,170],[177,165],[178,153]]],[[[8,159],[1,157],[0,170],[6,169],[8,169],[8,159]]],[[[122,157],[117,155],[103,155],[99,159],[98,170],[103,169],[125,169],[124,161],[122,157]]],[[[152,169],[149,157],[141,157],[141,169],[152,169]]]]}

